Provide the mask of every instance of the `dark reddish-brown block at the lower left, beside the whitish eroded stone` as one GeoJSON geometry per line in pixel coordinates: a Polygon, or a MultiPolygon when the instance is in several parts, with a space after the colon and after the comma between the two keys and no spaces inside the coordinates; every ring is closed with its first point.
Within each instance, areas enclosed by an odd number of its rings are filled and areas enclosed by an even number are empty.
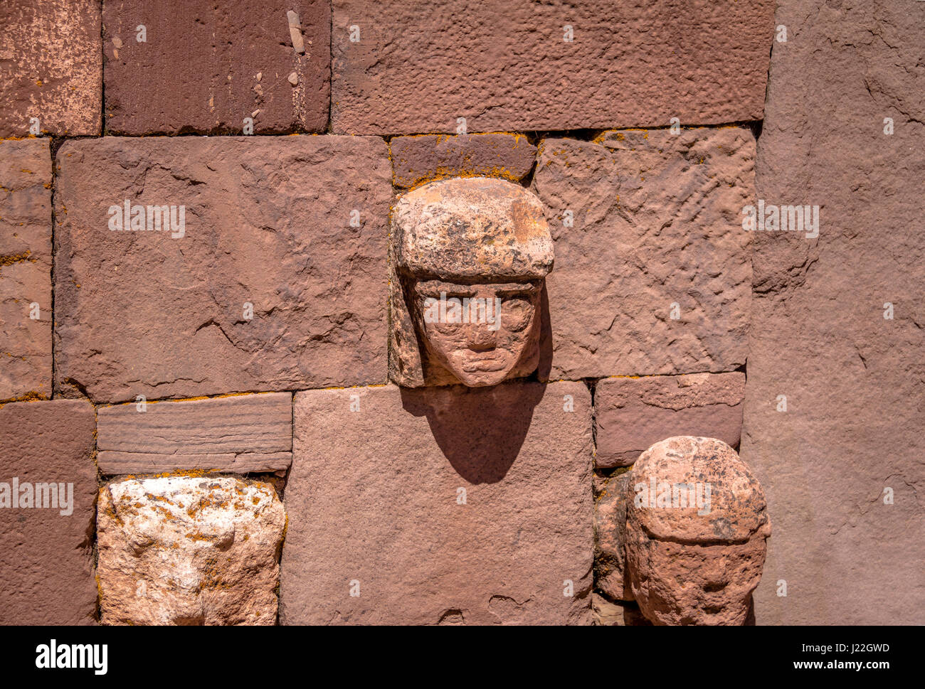
{"type": "MultiPolygon", "coordinates": [[[[94,425],[93,406],[86,401],[0,406],[0,482],[11,491],[18,478],[20,500],[30,484],[33,505],[36,484],[64,484],[58,495],[69,496],[69,506],[68,498],[58,498],[57,509],[51,492],[42,509],[10,504],[0,509],[0,624],[94,622],[94,425]]],[[[12,501],[10,494],[6,498],[12,501]]]]}

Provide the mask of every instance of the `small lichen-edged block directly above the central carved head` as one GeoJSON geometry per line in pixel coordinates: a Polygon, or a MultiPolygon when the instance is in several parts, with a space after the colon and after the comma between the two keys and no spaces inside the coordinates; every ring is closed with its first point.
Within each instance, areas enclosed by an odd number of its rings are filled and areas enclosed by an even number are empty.
{"type": "Polygon", "coordinates": [[[523,134],[397,136],[388,142],[396,187],[448,177],[499,177],[519,182],[533,169],[536,146],[523,134]]]}

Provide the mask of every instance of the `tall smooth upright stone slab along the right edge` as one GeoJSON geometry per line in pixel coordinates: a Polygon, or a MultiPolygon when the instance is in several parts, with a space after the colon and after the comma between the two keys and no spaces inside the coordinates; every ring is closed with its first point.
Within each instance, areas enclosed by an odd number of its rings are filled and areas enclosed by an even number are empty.
{"type": "Polygon", "coordinates": [[[774,523],[759,624],[917,624],[925,609],[921,5],[778,9],[758,193],[820,205],[820,231],[754,240],[742,457],[774,523]]]}

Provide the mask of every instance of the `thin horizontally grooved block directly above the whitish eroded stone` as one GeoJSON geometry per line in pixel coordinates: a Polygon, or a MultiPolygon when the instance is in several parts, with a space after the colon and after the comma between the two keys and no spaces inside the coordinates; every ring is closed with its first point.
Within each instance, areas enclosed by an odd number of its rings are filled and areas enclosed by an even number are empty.
{"type": "Polygon", "coordinates": [[[292,461],[292,394],[134,402],[97,412],[102,474],[202,469],[285,474],[292,461]]]}

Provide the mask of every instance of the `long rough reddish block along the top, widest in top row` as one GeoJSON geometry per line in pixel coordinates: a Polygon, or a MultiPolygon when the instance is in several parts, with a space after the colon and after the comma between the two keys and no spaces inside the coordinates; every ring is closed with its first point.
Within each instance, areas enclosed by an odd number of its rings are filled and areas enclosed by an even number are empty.
{"type": "Polygon", "coordinates": [[[763,112],[772,0],[333,6],[337,132],[452,132],[458,117],[470,132],[648,127],[763,112]]]}

